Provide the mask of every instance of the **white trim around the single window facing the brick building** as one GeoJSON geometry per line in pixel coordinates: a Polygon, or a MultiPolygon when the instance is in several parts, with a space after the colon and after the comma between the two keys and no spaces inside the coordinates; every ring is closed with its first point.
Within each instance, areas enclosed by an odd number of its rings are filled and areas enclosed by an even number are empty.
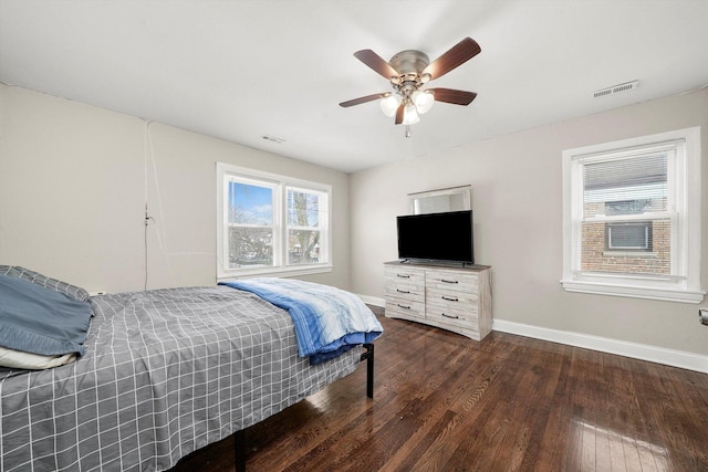
{"type": "MultiPolygon", "coordinates": [[[[584,146],[563,151],[563,276],[561,284],[569,292],[616,295],[669,302],[700,303],[706,292],[700,287],[700,127],[677,129],[638,138],[584,146]],[[686,277],[641,277],[604,274],[580,274],[580,224],[582,201],[573,193],[580,185],[579,158],[593,154],[610,154],[637,146],[649,146],[670,140],[685,140],[684,193],[678,199],[685,206],[686,224],[678,241],[686,248],[686,277]],[[580,204],[580,207],[579,207],[580,204]]],[[[671,256],[671,263],[675,258],[671,256]]]]}

